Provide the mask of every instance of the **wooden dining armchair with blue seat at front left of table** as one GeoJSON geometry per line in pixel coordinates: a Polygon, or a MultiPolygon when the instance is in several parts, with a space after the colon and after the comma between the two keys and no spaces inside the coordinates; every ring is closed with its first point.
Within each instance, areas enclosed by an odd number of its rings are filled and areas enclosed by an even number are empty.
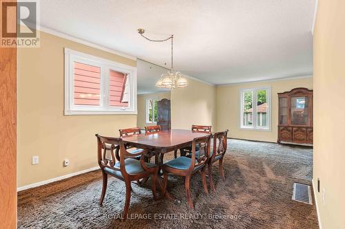
{"type": "Polygon", "coordinates": [[[157,200],[156,182],[158,166],[144,162],[144,157],[148,150],[143,149],[139,153],[129,153],[121,138],[108,138],[96,134],[97,137],[97,157],[103,175],[103,186],[99,205],[103,204],[108,184],[108,175],[121,179],[126,183],[126,201],[124,206],[123,220],[126,219],[130,205],[131,182],[146,177],[152,177],[152,193],[157,200]],[[140,160],[134,157],[141,155],[140,160]]]}

